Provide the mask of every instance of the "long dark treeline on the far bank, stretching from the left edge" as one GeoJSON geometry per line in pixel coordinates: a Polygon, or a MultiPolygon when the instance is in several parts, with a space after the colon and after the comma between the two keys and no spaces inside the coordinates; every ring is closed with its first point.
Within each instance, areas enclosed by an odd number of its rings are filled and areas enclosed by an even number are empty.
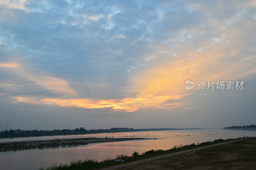
{"type": "Polygon", "coordinates": [[[150,128],[150,129],[133,129],[133,128],[110,128],[110,129],[91,129],[87,130],[83,127],[76,129],[54,129],[54,130],[4,130],[0,132],[0,138],[3,137],[25,137],[25,136],[46,136],[46,135],[74,135],[74,134],[92,134],[92,133],[108,133],[108,132],[133,132],[133,131],[158,131],[158,130],[190,130],[202,128],[150,128]]]}

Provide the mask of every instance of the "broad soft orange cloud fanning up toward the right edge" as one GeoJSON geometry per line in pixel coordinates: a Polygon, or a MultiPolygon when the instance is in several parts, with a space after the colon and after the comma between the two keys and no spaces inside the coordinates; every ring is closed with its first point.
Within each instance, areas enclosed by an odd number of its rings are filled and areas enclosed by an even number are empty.
{"type": "Polygon", "coordinates": [[[153,94],[155,96],[173,96],[190,93],[184,88],[186,80],[218,81],[240,80],[256,73],[255,62],[243,58],[232,59],[233,62],[223,62],[222,50],[215,49],[209,53],[188,52],[165,60],[144,70],[131,78],[131,92],[153,94]]]}

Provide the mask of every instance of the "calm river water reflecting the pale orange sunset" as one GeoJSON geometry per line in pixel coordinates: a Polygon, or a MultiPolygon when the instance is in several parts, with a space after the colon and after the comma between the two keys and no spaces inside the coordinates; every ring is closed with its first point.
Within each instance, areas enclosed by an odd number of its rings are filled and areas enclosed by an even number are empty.
{"type": "Polygon", "coordinates": [[[52,164],[66,164],[72,159],[96,159],[115,158],[116,154],[131,155],[134,151],[139,153],[151,149],[170,149],[174,145],[201,143],[214,139],[227,139],[245,136],[256,136],[255,130],[166,130],[166,131],[143,131],[123,133],[103,133],[90,135],[66,135],[66,136],[41,136],[22,137],[12,139],[0,139],[6,141],[29,141],[52,138],[80,138],[80,137],[147,137],[157,140],[137,140],[124,142],[94,143],[81,147],[55,148],[44,150],[26,150],[17,152],[0,152],[0,169],[39,169],[52,164]]]}

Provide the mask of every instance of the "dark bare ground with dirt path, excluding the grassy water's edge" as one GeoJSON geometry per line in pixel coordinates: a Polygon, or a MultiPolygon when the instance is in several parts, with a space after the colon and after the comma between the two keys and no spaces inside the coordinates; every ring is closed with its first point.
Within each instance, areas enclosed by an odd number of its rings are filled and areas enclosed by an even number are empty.
{"type": "Polygon", "coordinates": [[[198,148],[186,153],[108,169],[255,169],[256,138],[198,148]]]}

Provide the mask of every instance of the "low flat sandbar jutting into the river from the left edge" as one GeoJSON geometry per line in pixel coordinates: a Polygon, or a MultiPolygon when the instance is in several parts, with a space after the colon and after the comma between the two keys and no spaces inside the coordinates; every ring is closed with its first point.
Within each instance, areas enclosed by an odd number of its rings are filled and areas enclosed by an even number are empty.
{"type": "Polygon", "coordinates": [[[20,142],[1,142],[0,152],[18,151],[27,149],[44,149],[55,147],[72,147],[87,145],[88,143],[120,142],[127,140],[141,140],[146,138],[74,138],[74,139],[52,139],[20,142]]]}

